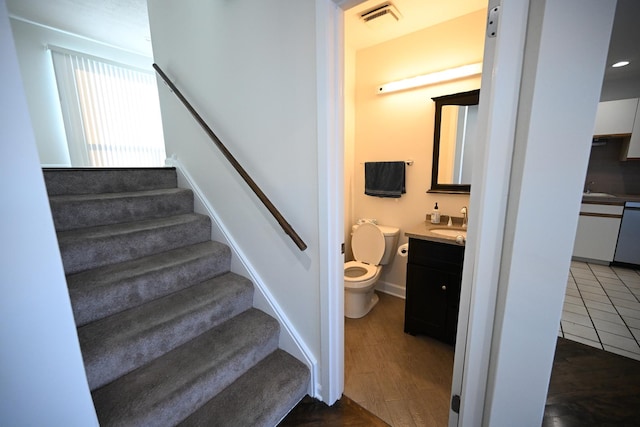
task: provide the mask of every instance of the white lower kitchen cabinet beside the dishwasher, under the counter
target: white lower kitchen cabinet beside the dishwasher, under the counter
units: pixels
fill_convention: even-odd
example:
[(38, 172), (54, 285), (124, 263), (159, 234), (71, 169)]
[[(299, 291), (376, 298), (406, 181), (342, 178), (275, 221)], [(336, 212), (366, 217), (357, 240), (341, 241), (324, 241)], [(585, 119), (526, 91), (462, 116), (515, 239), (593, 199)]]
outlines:
[(573, 245), (573, 257), (609, 264), (613, 261), (624, 203), (583, 202)]

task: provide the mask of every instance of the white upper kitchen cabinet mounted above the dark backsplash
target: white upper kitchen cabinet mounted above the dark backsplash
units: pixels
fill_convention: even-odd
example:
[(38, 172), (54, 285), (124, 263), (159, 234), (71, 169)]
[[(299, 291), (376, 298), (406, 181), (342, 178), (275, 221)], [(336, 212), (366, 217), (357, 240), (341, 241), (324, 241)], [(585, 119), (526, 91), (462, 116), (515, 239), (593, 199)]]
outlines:
[[(600, 102), (593, 134), (599, 136), (632, 133), (634, 123), (637, 122), (637, 110), (638, 98)], [(640, 122), (638, 125), (640, 126)]]

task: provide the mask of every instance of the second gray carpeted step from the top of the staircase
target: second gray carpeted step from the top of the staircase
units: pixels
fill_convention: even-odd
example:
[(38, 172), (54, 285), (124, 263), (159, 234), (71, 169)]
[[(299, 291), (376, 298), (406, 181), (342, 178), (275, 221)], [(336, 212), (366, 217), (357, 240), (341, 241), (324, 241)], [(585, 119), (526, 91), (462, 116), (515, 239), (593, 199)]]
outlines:
[(193, 212), (193, 192), (182, 188), (52, 196), (57, 231), (118, 224)]

